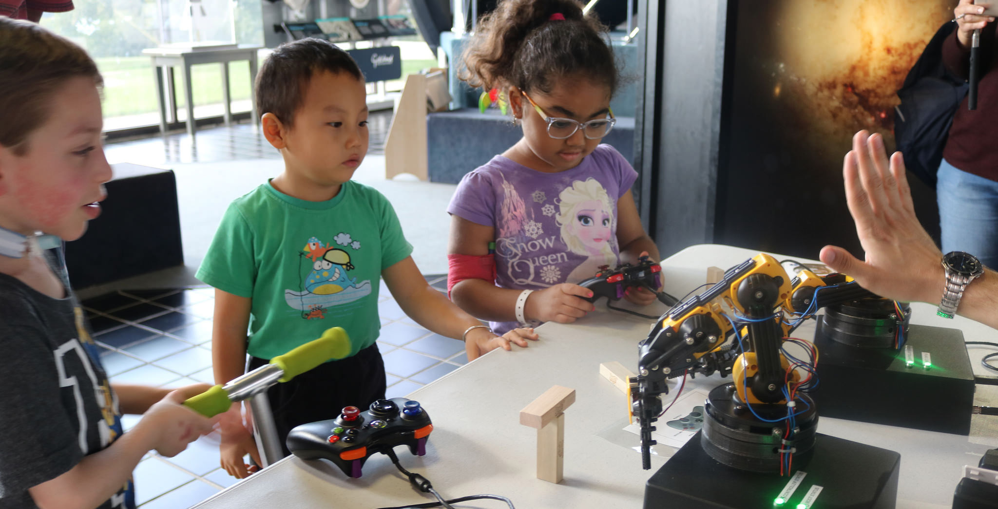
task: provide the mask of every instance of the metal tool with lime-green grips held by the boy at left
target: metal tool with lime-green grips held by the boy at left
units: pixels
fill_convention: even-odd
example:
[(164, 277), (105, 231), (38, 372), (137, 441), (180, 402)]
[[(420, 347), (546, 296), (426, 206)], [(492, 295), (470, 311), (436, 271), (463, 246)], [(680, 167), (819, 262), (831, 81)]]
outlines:
[(269, 364), (259, 366), (225, 385), (216, 385), (189, 398), (184, 404), (202, 415), (212, 417), (229, 410), (236, 401), (252, 398), (253, 425), (264, 463), (260, 466), (264, 467), (282, 456), (266, 399), (266, 389), (277, 382), (286, 382), (327, 360), (343, 358), (349, 353), (350, 338), (346, 331), (342, 327), (327, 328), (318, 339), (277, 355), (270, 359)]

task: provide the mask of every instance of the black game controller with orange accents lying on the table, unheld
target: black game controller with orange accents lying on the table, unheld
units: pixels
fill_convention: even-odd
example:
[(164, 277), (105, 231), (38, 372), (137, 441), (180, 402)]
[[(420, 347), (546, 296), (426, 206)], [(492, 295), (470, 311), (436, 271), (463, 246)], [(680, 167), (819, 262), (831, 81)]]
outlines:
[(301, 459), (327, 459), (349, 477), (376, 452), (408, 445), (416, 456), (426, 454), (426, 437), (433, 431), (430, 416), (419, 402), (404, 397), (378, 399), (361, 412), (343, 408), (335, 419), (296, 426), (287, 434), (287, 448)]

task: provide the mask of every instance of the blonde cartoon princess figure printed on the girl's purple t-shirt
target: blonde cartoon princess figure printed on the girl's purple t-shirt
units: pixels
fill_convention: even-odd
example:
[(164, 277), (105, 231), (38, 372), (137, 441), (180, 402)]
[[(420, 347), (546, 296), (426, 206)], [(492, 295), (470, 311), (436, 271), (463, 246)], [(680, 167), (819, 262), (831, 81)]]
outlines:
[(556, 202), (559, 212), (555, 223), (569, 251), (584, 255), (566, 279), (578, 282), (592, 277), (600, 265), (617, 266), (614, 239), (614, 208), (607, 190), (596, 179), (575, 181), (565, 188)]

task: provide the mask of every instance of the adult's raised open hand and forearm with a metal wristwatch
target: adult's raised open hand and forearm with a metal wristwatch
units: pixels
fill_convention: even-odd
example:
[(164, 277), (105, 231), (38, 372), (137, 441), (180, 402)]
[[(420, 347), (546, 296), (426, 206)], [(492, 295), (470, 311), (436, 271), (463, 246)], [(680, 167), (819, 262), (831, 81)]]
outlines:
[[(825, 246), (819, 255), (821, 261), (888, 298), (942, 307), (951, 304), (944, 302), (947, 275), (943, 255), (915, 217), (901, 154), (896, 152), (888, 160), (883, 138), (860, 131), (852, 138), (852, 151), (845, 155), (842, 175), (849, 213), (866, 259)], [(950, 255), (947, 261), (960, 268), (970, 260)], [(950, 300), (954, 293), (958, 292), (948, 295)], [(994, 270), (983, 268), (957, 300), (956, 313), (998, 328), (998, 273)]]

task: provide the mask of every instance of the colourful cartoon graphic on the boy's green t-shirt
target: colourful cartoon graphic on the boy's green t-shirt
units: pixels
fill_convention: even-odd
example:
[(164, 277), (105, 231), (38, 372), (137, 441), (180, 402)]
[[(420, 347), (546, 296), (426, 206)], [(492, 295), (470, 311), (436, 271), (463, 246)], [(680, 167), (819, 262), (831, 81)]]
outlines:
[(298, 257), (312, 260), (311, 266), (297, 268), (304, 275), (299, 288), (284, 290), (284, 301), (301, 311), (304, 319), (322, 319), (330, 306), (352, 302), (371, 292), (369, 280), (358, 282), (348, 273), (355, 267), (346, 250), (360, 250), (360, 242), (346, 233), (338, 234), (333, 242), (343, 249), (323, 245), (316, 237), (308, 239)]

